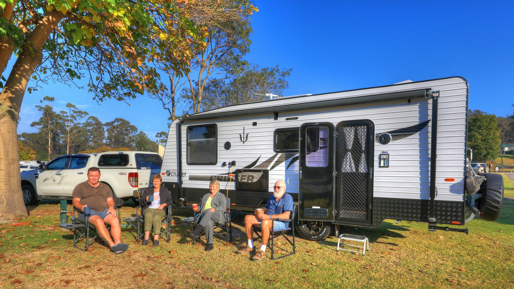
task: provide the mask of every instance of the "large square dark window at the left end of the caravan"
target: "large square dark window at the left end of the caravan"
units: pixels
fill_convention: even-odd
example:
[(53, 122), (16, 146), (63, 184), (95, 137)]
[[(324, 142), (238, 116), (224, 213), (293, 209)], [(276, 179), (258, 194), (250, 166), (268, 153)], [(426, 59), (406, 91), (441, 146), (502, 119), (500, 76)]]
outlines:
[(188, 165), (215, 165), (217, 162), (216, 124), (188, 127)]

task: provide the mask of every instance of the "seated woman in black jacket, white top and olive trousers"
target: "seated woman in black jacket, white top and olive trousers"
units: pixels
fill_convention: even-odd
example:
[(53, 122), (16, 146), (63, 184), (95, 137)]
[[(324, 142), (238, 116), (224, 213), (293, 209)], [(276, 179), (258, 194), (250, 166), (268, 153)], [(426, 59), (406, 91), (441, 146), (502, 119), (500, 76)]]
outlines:
[[(148, 187), (144, 190), (143, 195), (139, 198), (139, 205), (144, 215), (144, 238), (141, 245), (148, 244), (150, 240), (150, 230), (154, 227), (154, 245), (159, 245), (159, 233), (161, 221), (166, 216), (164, 207), (171, 206), (171, 193), (166, 187), (161, 187), (162, 177), (154, 175), (152, 177), (154, 187)], [(154, 196), (154, 201), (149, 202), (149, 196)], [(171, 210), (171, 208), (168, 208)]]

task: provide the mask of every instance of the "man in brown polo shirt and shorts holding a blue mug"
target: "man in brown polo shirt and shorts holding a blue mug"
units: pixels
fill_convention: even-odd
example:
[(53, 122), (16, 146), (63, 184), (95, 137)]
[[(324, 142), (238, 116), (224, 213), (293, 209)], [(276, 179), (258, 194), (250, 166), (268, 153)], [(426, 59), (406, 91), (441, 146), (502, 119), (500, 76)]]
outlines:
[[(128, 249), (128, 244), (121, 243), (121, 227), (114, 209), (113, 192), (99, 180), (100, 170), (96, 167), (89, 168), (87, 180), (78, 184), (71, 194), (73, 206), (82, 210), (79, 218), (85, 218), (84, 207), (90, 208), (89, 222), (97, 229), (98, 236), (111, 247), (114, 254), (120, 254)], [(111, 225), (110, 235), (105, 224)]]

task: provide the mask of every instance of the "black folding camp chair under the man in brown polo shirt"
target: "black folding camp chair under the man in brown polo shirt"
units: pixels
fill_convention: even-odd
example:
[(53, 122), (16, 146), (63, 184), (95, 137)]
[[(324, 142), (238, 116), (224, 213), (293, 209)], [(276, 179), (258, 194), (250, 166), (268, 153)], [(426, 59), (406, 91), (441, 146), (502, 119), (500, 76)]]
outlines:
[[(114, 207), (118, 211), (118, 220), (120, 220), (120, 209), (117, 207)], [(77, 212), (77, 215), (75, 213)], [(84, 219), (79, 218), (79, 213), (82, 213), (82, 210), (79, 210), (77, 208), (73, 208), (73, 216), (72, 221), (73, 223), (66, 223), (66, 224), (59, 224), (59, 227), (63, 229), (68, 229), (73, 232), (73, 246), (79, 250), (87, 251), (89, 245), (95, 241), (95, 239), (98, 237), (98, 232), (96, 231), (96, 227), (93, 226), (89, 222), (89, 215), (85, 215)], [(120, 220), (121, 222), (121, 220)], [(109, 232), (111, 231), (111, 226), (106, 225), (107, 230)], [(95, 237), (90, 238), (89, 237), (89, 230), (93, 230), (96, 234)], [(81, 240), (84, 240), (85, 248), (79, 248), (77, 246), (77, 243), (79, 243)]]

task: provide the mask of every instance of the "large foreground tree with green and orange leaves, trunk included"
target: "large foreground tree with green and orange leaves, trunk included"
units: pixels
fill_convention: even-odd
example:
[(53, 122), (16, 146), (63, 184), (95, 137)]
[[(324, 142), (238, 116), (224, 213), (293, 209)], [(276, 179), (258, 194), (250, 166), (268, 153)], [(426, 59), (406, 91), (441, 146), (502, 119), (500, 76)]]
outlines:
[(189, 11), (187, 1), (0, 0), (0, 216), (27, 215), (16, 165), (25, 92), (49, 81), (85, 79), (98, 101), (135, 98), (158, 82), (149, 62), (173, 55), (170, 65), (184, 71), (193, 47), (205, 43), (206, 32)]

